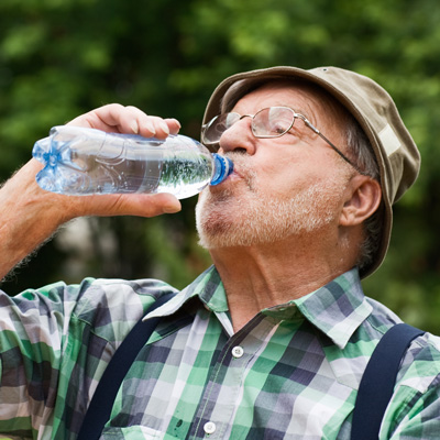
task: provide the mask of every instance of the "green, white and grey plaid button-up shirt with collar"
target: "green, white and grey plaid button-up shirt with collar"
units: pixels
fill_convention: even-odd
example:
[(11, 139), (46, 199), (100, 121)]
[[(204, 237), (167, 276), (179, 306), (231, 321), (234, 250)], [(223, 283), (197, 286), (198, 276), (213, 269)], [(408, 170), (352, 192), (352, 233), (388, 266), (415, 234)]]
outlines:
[[(86, 279), (1, 295), (0, 432), (75, 439), (113, 352), (170, 290), (153, 279)], [(369, 358), (399, 321), (364, 297), (355, 270), (262, 310), (235, 334), (213, 267), (151, 315), (163, 319), (102, 439), (349, 439)], [(381, 439), (440, 438), (439, 349), (428, 333), (411, 343)]]

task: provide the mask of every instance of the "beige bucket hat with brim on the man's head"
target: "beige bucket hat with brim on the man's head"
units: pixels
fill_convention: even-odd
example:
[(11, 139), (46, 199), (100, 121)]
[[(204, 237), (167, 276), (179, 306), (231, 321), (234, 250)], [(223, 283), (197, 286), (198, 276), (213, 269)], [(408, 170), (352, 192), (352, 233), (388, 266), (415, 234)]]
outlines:
[(361, 274), (365, 277), (385, 257), (393, 224), (392, 205), (416, 180), (420, 154), (391, 96), (372, 79), (338, 67), (304, 70), (280, 66), (233, 75), (213, 91), (205, 111), (204, 124), (220, 113), (222, 99), (232, 85), (244, 96), (250, 85), (283, 78), (302, 78), (326, 89), (358, 120), (373, 146), (381, 172), (384, 221), (380, 249), (373, 263)]

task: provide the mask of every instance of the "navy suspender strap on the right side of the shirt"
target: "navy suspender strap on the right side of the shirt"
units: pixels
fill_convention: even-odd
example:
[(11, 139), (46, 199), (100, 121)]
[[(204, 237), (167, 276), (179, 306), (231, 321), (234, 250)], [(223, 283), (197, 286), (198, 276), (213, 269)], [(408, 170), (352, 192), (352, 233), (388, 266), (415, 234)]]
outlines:
[(378, 439), (402, 358), (411, 341), (424, 333), (407, 323), (398, 323), (382, 337), (361, 380), (353, 411), (352, 440)]

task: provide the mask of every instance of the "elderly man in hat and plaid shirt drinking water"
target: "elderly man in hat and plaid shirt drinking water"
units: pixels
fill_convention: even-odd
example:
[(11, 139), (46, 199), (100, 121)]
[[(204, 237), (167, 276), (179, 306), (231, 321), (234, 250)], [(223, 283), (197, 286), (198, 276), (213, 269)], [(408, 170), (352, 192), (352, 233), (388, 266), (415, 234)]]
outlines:
[[(165, 138), (176, 120), (106, 106), (72, 121)], [(339, 68), (275, 67), (226, 79), (202, 142), (234, 162), (196, 210), (213, 266), (148, 314), (162, 319), (123, 380), (102, 438), (350, 439), (374, 348), (399, 319), (364, 297), (382, 263), (392, 204), (418, 151), (389, 96)], [(151, 217), (170, 195), (63, 197), (31, 161), (1, 190), (3, 275), (78, 216)], [(1, 297), (0, 432), (75, 439), (116, 349), (174, 289), (85, 279)], [(380, 439), (438, 439), (440, 342), (414, 340)], [(374, 403), (372, 403), (374, 405)]]

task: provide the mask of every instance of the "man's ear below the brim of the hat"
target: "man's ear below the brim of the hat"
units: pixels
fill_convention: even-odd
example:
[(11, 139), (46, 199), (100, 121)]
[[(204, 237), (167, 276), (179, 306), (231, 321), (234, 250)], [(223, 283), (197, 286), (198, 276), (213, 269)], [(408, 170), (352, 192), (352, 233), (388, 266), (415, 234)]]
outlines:
[(371, 217), (381, 204), (382, 189), (377, 180), (369, 176), (356, 175), (346, 188), (339, 224), (352, 227)]

